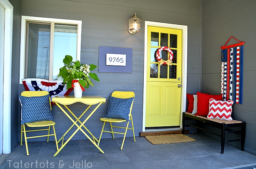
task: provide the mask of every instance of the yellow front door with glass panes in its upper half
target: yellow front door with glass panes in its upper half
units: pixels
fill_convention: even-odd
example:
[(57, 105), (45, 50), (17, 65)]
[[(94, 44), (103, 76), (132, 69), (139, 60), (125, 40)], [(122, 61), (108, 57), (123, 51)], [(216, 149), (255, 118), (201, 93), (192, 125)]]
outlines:
[[(182, 30), (148, 26), (147, 89), (145, 127), (180, 126)], [(167, 46), (173, 51), (171, 65), (156, 59), (158, 48)], [(162, 50), (160, 58), (169, 59)]]

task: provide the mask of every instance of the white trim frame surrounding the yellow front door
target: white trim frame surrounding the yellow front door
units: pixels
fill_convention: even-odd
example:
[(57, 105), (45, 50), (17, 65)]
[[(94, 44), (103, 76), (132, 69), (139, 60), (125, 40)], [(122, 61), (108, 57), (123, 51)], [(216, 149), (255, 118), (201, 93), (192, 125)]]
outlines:
[(142, 131), (145, 132), (146, 119), (146, 87), (147, 87), (147, 41), (148, 26), (166, 27), (173, 29), (182, 29), (182, 91), (180, 107), (180, 128), (182, 128), (182, 112), (186, 111), (186, 91), (187, 91), (187, 25), (167, 24), (161, 22), (145, 21), (144, 37), (144, 85), (143, 85), (143, 121)]

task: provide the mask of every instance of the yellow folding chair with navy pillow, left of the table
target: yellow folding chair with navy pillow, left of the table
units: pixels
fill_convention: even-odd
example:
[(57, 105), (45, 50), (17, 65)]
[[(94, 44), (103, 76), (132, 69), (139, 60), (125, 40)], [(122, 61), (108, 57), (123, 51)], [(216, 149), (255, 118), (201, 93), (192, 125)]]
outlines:
[[(49, 96), (47, 96), (47, 95), (49, 95)], [(50, 103), (50, 94), (47, 91), (24, 91), (20, 94), (20, 96), (25, 96), (25, 97), (20, 97), (20, 104), (21, 105), (23, 104), (22, 108), (24, 110), (23, 112), (21, 111), (21, 118), (23, 118), (22, 120), (24, 120), (24, 122), (27, 122), (27, 123), (21, 124), (20, 145), (22, 145), (22, 135), (24, 133), (27, 156), (29, 155), (29, 153), (28, 153), (28, 143), (27, 143), (27, 139), (29, 139), (29, 138), (38, 138), (38, 137), (47, 136), (47, 142), (48, 142), (49, 141), (49, 136), (54, 136), (57, 151), (58, 151), (59, 147), (58, 147), (58, 144), (57, 144), (57, 138), (56, 138), (56, 133), (55, 133), (55, 129), (54, 129), (55, 122), (52, 121), (53, 116), (52, 116), (52, 112), (51, 112), (52, 106), (51, 106), (51, 103)], [(39, 96), (45, 96), (45, 97), (39, 97)], [(29, 99), (28, 97), (33, 97), (33, 98), (37, 99), (37, 101), (36, 101), (37, 103), (35, 103), (35, 104), (41, 104), (41, 105), (33, 105), (32, 102), (34, 102), (34, 100), (32, 100), (32, 98)], [(49, 104), (48, 104), (47, 100), (49, 100)], [(31, 105), (28, 105), (30, 103), (31, 103)], [(39, 107), (39, 109), (35, 110), (35, 107)], [(49, 110), (49, 108), (50, 108), (50, 110)], [(52, 118), (50, 120), (47, 120), (46, 118), (48, 118), (48, 117), (45, 117), (45, 116), (43, 117), (43, 115), (42, 115), (42, 118), (40, 116), (38, 116), (38, 114), (45, 113), (44, 111), (47, 111), (47, 110), (48, 110), (47, 113), (49, 113), (49, 115), (52, 116)], [(26, 114), (24, 114), (25, 112), (26, 112)], [(37, 112), (37, 114), (34, 114), (35, 112)], [(33, 120), (28, 119), (28, 118), (32, 118), (32, 116), (33, 116)], [(37, 118), (37, 119), (35, 120), (35, 118)], [(40, 119), (43, 119), (43, 118), (45, 118), (46, 120), (40, 120)], [(28, 121), (36, 121), (36, 122), (28, 122)], [(46, 129), (26, 130), (25, 125), (27, 125), (28, 127), (47, 127), (48, 126), (48, 128), (46, 128)], [(50, 134), (50, 126), (52, 126), (52, 128), (53, 128), (54, 134)], [(30, 136), (30, 137), (26, 136), (27, 132), (46, 131), (46, 130), (48, 131), (48, 134), (45, 134), (45, 135), (37, 135), (37, 136)]]

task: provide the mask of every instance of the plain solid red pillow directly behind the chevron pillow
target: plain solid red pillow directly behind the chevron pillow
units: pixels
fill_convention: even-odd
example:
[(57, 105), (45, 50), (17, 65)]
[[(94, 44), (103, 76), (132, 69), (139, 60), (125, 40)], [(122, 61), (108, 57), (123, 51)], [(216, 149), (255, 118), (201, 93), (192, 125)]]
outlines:
[(196, 116), (207, 116), (209, 113), (209, 100), (222, 100), (222, 95), (212, 95), (197, 92), (197, 113)]

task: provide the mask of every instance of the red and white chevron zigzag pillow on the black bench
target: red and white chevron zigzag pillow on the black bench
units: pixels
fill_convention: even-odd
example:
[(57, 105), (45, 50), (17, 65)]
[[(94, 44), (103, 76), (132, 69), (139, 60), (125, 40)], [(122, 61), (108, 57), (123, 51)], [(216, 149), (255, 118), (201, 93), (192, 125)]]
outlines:
[(217, 118), (221, 120), (231, 121), (233, 100), (218, 101), (213, 98), (209, 100), (209, 114), (207, 118)]

